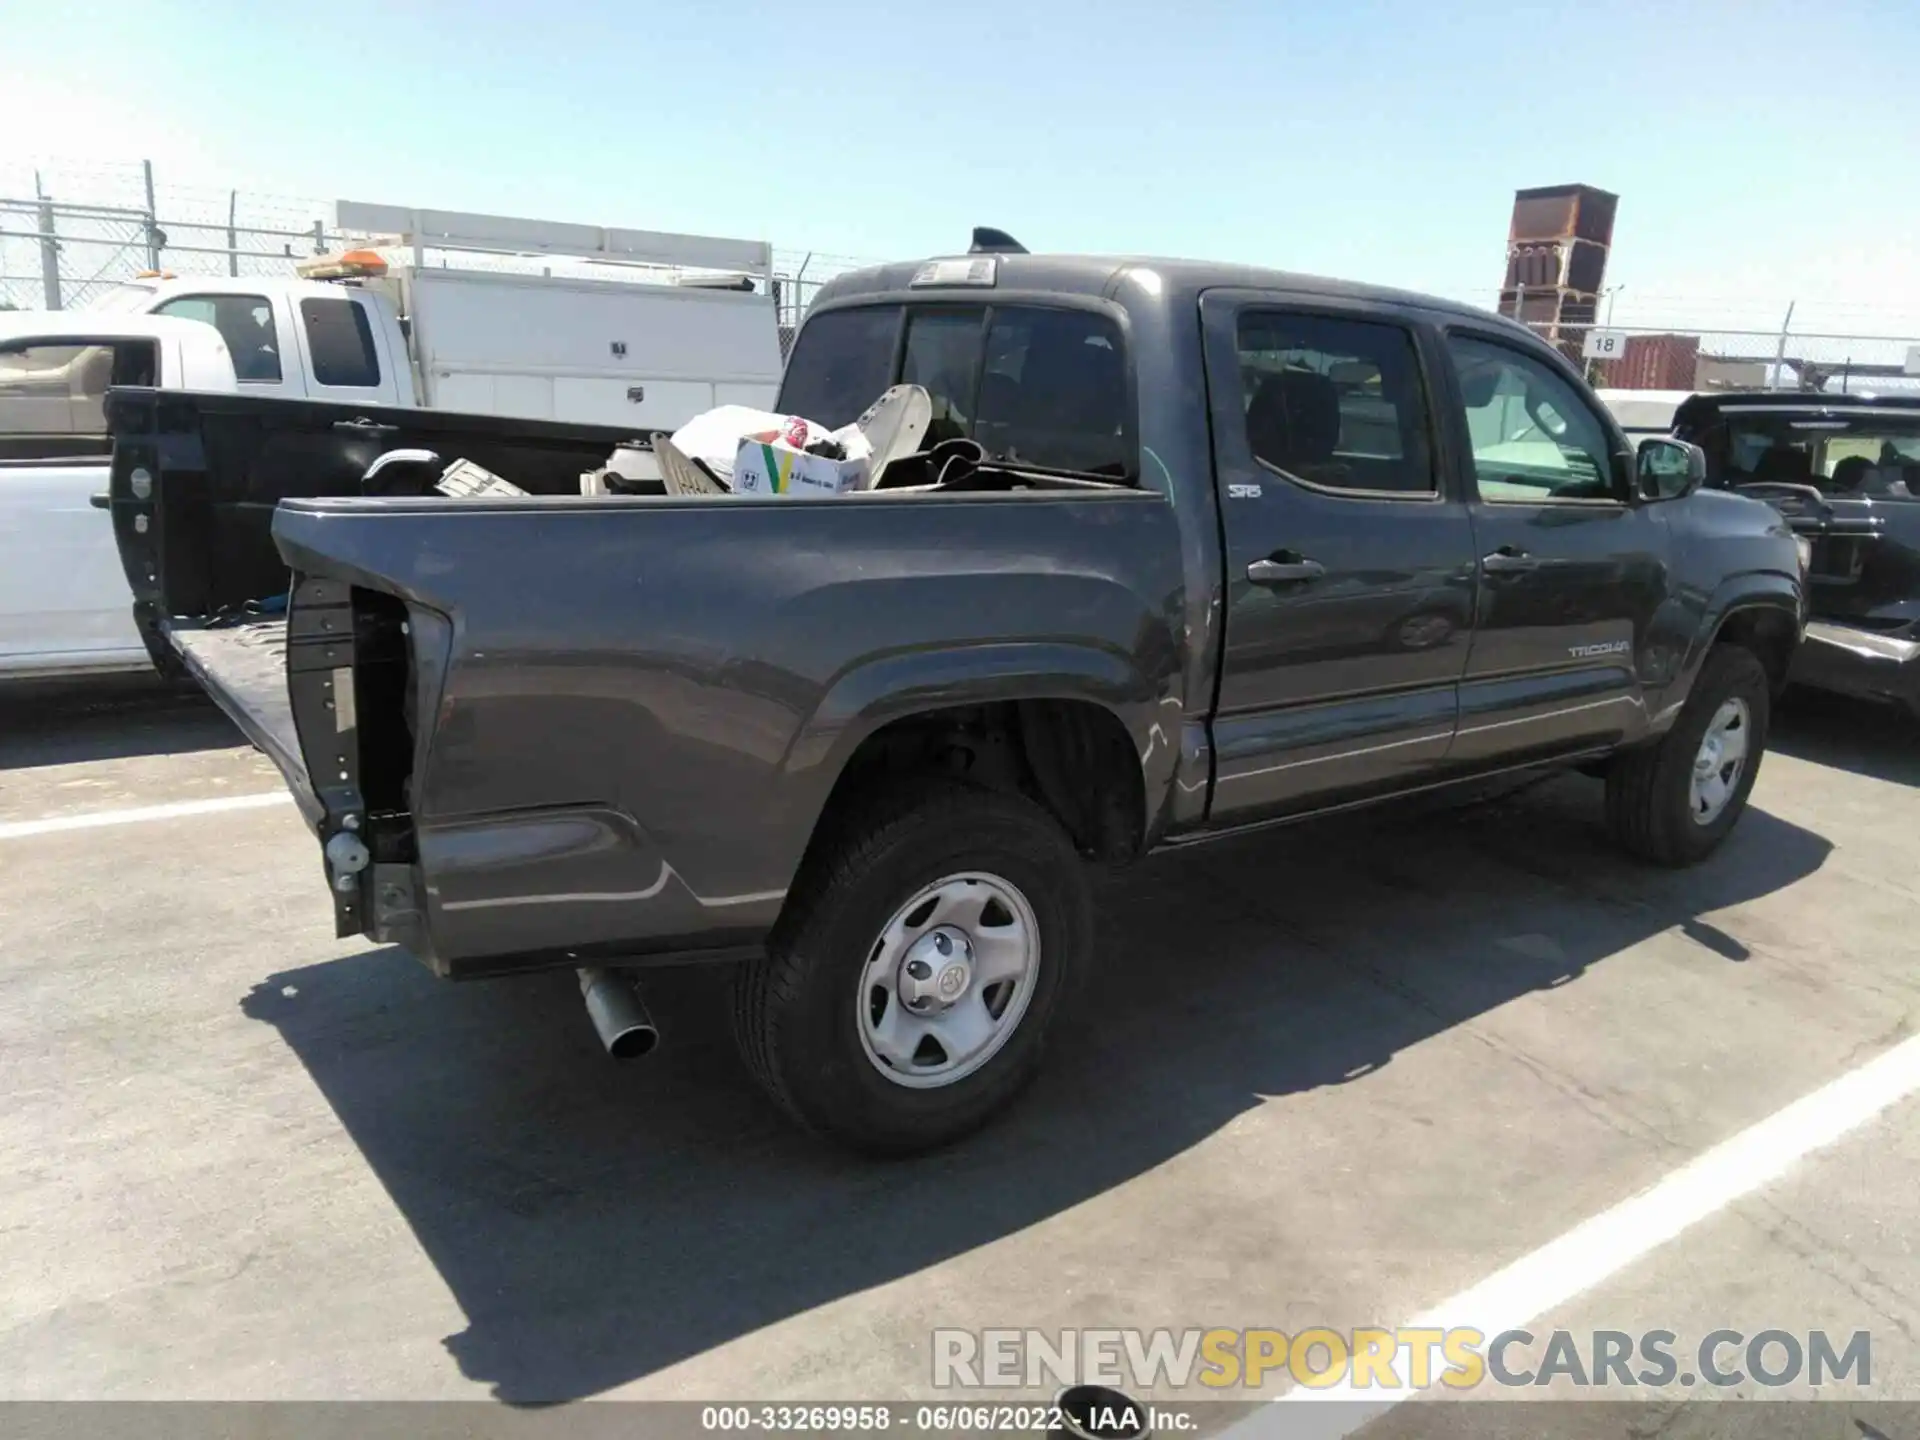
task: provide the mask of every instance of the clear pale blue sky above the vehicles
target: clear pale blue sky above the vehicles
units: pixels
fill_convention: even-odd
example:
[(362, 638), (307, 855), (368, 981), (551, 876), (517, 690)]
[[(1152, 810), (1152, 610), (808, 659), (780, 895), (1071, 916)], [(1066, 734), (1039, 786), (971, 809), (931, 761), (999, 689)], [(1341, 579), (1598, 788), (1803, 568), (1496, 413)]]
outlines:
[(0, 109), (10, 169), (1457, 296), (1517, 186), (1586, 180), (1622, 321), (1920, 319), (1914, 0), (0, 0)]

